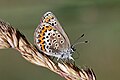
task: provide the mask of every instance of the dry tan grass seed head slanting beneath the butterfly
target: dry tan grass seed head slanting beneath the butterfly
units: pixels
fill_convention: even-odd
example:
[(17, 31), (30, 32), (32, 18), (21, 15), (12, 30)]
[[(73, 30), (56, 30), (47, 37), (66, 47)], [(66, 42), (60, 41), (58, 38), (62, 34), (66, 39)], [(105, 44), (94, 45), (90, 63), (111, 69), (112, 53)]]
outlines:
[(64, 62), (55, 63), (30, 44), (18, 30), (14, 29), (9, 23), (0, 20), (0, 49), (3, 48), (18, 50), (29, 62), (46, 67), (66, 80), (96, 80), (92, 69), (79, 69), (74, 64)]

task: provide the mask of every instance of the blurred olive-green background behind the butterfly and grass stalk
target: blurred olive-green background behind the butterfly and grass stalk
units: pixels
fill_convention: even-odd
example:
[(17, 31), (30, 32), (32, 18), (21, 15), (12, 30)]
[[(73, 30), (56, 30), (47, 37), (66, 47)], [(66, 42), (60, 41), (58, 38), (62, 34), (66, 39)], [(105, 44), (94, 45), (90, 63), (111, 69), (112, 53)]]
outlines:
[[(42, 15), (52, 11), (71, 43), (82, 33), (88, 44), (77, 45), (78, 66), (93, 68), (97, 80), (120, 79), (120, 0), (0, 0), (0, 18), (33, 43)], [(74, 57), (78, 55), (75, 53)], [(0, 50), (0, 80), (64, 80), (33, 65), (14, 49)]]

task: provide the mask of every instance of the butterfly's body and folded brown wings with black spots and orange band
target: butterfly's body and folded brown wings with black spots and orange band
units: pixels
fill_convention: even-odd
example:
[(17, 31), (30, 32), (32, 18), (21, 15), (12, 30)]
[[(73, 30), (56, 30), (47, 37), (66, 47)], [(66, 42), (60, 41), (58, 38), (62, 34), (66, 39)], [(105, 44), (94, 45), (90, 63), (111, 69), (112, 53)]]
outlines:
[(52, 12), (46, 12), (40, 19), (34, 32), (34, 43), (38, 50), (57, 60), (74, 60), (72, 57), (74, 48)]

